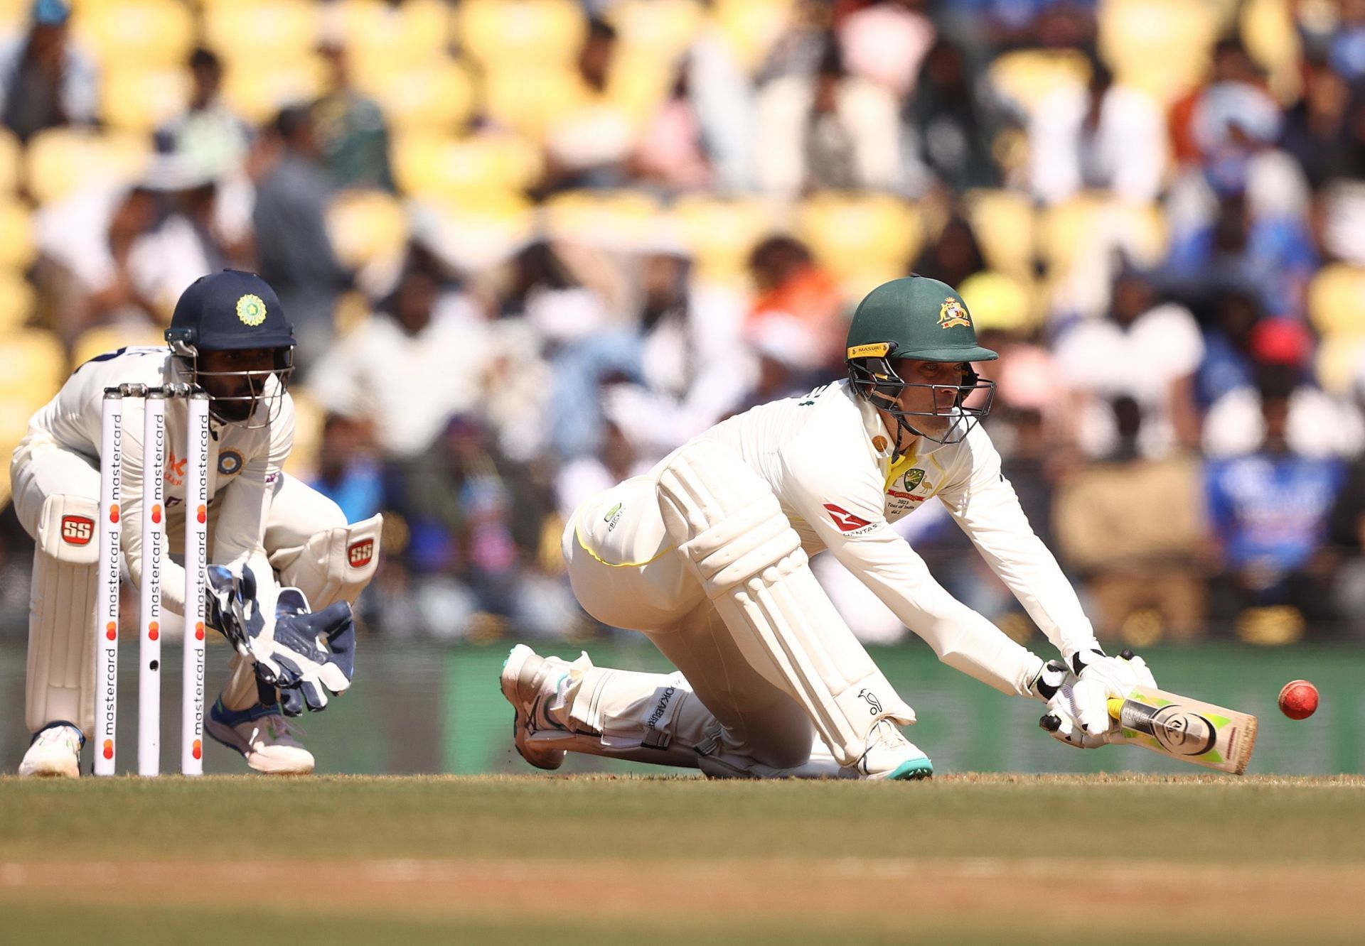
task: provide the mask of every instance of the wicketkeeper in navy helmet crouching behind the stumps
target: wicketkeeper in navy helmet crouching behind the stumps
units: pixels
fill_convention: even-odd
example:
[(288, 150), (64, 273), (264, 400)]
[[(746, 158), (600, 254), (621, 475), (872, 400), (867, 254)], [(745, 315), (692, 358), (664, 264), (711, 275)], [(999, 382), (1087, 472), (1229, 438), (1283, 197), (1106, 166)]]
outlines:
[[(94, 615), (104, 391), (119, 384), (198, 384), (209, 394), (209, 623), (238, 645), (205, 729), (257, 772), (313, 772), (283, 713), (326, 705), (349, 684), (351, 604), (374, 575), (381, 518), (348, 525), (340, 507), (283, 472), (293, 444), (288, 380), (293, 330), (259, 277), (224, 270), (180, 296), (168, 346), (124, 348), (72, 372), (29, 423), (11, 461), (19, 522), (34, 538), (26, 720), (34, 733), (20, 776), (78, 776), (94, 727)], [(167, 402), (168, 558), (142, 549), (143, 402), (123, 429), (121, 552), (134, 585), (149, 567), (162, 607), (184, 612), (187, 403)], [(280, 594), (288, 586), (288, 594)], [(278, 602), (278, 609), (277, 609)], [(322, 646), (321, 639), (330, 642)], [(283, 710), (283, 712), (281, 712)]]

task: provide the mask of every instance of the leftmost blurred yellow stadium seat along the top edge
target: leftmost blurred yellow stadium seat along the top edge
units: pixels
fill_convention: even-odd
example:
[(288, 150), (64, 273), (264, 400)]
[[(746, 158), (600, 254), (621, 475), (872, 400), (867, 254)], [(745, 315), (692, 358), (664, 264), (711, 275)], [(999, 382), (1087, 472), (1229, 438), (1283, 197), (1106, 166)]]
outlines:
[(194, 45), (194, 15), (177, 0), (83, 3), (71, 25), (106, 68), (183, 65)]

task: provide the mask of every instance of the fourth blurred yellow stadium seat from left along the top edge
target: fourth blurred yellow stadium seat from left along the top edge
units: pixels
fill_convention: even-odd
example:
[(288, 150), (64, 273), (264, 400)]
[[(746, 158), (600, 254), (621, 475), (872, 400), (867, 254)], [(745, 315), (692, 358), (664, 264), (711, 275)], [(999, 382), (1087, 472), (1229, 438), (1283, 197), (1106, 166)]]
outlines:
[(452, 29), (455, 44), (485, 68), (566, 67), (587, 20), (573, 0), (465, 0)]

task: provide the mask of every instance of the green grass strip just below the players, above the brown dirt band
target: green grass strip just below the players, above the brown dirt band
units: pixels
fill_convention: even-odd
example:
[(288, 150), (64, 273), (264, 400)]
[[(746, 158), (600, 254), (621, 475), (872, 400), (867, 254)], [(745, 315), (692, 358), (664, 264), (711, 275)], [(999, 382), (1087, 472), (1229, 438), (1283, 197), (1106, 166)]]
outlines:
[[(251, 826), (269, 825), (266, 830)], [(707, 831), (691, 830), (704, 823)], [(1254, 829), (1254, 830), (1252, 830)], [(699, 778), (0, 780), (4, 860), (1022, 857), (1072, 837), (1132, 859), (1365, 863), (1365, 780), (958, 776), (924, 784)], [(266, 838), (268, 836), (268, 838)], [(1080, 857), (1108, 857), (1084, 845)]]

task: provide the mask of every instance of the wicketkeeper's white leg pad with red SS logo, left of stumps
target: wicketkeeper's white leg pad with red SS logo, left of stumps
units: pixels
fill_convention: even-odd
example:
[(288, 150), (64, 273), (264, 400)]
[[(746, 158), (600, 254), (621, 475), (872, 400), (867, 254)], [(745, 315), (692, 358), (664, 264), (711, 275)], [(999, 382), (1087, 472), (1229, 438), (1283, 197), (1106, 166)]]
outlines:
[(30, 732), (57, 720), (94, 732), (98, 518), (98, 502), (66, 495), (48, 496), (38, 514), (25, 702)]

